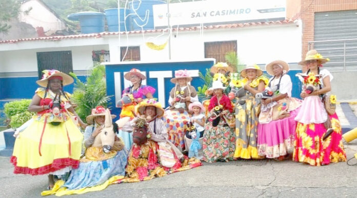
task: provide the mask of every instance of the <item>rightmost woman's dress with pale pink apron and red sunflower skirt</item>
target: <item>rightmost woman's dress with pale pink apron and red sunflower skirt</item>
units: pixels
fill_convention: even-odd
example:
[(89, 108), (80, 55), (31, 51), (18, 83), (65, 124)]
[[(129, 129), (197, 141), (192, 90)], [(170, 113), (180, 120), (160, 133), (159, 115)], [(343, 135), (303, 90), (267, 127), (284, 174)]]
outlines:
[[(320, 71), (321, 87), (327, 76), (333, 79), (331, 73), (324, 69)], [(302, 80), (302, 79), (301, 79)], [(333, 133), (323, 141), (326, 133), (324, 122), (330, 119)], [(312, 166), (327, 165), (330, 162), (345, 162), (346, 153), (342, 143), (342, 128), (336, 114), (328, 115), (319, 96), (304, 98), (302, 107), (295, 120), (296, 126), (293, 161), (305, 162)]]

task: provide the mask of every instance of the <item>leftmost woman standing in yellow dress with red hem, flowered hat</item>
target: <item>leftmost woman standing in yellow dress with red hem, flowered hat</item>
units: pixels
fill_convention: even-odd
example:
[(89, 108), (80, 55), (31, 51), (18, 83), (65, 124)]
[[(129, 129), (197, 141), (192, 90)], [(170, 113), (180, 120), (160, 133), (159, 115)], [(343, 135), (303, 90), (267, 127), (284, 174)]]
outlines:
[(83, 135), (72, 116), (82, 127), (86, 124), (74, 112), (70, 94), (63, 91), (73, 78), (57, 70), (43, 73), (43, 78), (36, 81), (42, 87), (36, 90), (29, 106), (29, 111), (37, 115), (16, 137), (11, 163), (16, 174), (49, 174), (48, 187), (52, 188), (53, 175), (63, 175), (79, 164)]

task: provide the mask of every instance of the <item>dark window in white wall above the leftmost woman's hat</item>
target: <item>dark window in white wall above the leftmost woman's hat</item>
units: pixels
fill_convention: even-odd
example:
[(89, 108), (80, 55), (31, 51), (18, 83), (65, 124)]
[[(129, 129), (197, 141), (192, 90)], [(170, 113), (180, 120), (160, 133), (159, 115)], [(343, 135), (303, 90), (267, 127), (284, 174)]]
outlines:
[(58, 70), (63, 73), (73, 72), (72, 52), (37, 52), (38, 79), (42, 78), (43, 70)]

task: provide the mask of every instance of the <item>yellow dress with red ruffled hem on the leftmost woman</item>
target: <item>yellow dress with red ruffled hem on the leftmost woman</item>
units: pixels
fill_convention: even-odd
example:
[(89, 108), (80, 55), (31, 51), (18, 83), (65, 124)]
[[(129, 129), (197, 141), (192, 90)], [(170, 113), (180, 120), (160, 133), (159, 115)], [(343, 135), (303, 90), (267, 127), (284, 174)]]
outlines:
[[(39, 105), (48, 105), (55, 97), (51, 91), (39, 88)], [(61, 113), (54, 116), (50, 109), (38, 112), (33, 122), (16, 138), (11, 163), (14, 173), (61, 175), (77, 168), (81, 156), (83, 135), (73, 123), (69, 107), (70, 94), (61, 95)], [(54, 125), (51, 122), (57, 122)]]

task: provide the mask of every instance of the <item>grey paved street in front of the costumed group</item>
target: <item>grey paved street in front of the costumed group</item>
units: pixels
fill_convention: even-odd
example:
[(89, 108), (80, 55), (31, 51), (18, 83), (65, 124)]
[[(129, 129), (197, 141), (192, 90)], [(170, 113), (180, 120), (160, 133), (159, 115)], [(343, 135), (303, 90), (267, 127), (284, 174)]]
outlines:
[[(351, 105), (356, 113), (357, 105)], [(340, 109), (341, 110), (341, 109)], [(338, 111), (340, 111), (338, 110)], [(338, 113), (341, 121), (349, 123)], [(344, 120), (345, 119), (345, 120)], [(345, 144), (347, 158), (357, 139)], [(357, 160), (354, 160), (357, 163)], [(0, 157), (0, 197), (39, 197), (46, 176), (15, 175), (8, 157)], [(239, 160), (214, 163), (150, 181), (115, 184), (72, 197), (356, 197), (357, 165), (346, 162), (312, 167), (291, 160)], [(51, 196), (54, 197), (54, 196)]]

